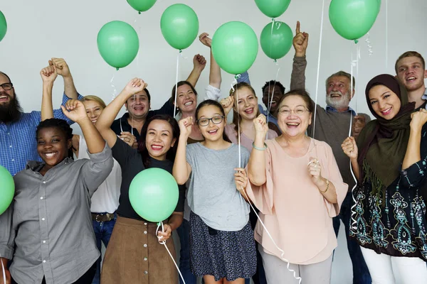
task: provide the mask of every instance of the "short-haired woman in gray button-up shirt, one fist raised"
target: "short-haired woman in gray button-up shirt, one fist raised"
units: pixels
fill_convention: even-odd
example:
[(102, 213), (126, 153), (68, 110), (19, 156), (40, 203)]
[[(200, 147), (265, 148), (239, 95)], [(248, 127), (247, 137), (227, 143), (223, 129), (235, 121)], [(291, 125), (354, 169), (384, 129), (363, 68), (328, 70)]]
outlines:
[[(110, 148), (86, 115), (81, 102), (62, 107), (90, 137), (90, 159), (73, 160), (73, 130), (62, 119), (46, 119), (36, 131), (42, 163), (29, 161), (14, 177), (13, 215), (0, 239), (5, 258), (14, 258), (11, 283), (92, 283), (100, 256), (90, 219), (90, 197), (112, 169)], [(13, 221), (11, 221), (13, 220)], [(4, 244), (7, 244), (4, 246)], [(7, 269), (6, 269), (7, 271)], [(6, 272), (6, 275), (9, 273)]]

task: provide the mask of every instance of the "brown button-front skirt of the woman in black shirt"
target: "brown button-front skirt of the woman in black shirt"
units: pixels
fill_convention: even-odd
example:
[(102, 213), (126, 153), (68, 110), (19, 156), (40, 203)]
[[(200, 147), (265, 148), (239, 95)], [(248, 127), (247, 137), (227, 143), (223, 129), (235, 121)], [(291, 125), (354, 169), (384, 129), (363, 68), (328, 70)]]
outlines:
[[(156, 236), (157, 224), (117, 217), (102, 263), (101, 284), (175, 284), (178, 271)], [(166, 242), (176, 259), (172, 236)]]

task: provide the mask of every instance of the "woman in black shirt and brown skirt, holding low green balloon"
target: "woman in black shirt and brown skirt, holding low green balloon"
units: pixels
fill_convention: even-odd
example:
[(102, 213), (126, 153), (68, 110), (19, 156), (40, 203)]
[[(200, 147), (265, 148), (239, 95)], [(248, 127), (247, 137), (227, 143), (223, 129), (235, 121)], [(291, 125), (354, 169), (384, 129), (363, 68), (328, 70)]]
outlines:
[[(157, 224), (139, 217), (130, 204), (129, 187), (135, 175), (146, 168), (162, 168), (172, 173), (179, 126), (171, 116), (157, 115), (142, 126), (141, 139), (135, 150), (110, 129), (112, 121), (128, 98), (144, 89), (141, 79), (131, 80), (120, 94), (102, 111), (97, 129), (112, 148), (112, 156), (122, 168), (120, 204), (117, 221), (102, 264), (101, 283), (177, 283), (177, 271), (167, 250), (159, 244), (171, 237), (181, 225), (185, 187), (180, 187), (175, 212), (164, 224), (165, 232), (156, 232)], [(174, 241), (167, 241), (174, 254)]]

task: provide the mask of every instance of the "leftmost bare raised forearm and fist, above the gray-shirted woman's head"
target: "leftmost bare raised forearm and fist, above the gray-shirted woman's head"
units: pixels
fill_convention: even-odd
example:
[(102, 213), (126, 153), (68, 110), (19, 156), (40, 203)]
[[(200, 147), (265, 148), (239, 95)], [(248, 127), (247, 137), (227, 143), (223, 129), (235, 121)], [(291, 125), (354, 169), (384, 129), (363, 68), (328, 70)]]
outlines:
[(43, 80), (43, 94), (41, 97), (41, 121), (53, 118), (52, 89), (53, 83), (58, 77), (56, 68), (52, 65), (44, 67), (40, 71)]

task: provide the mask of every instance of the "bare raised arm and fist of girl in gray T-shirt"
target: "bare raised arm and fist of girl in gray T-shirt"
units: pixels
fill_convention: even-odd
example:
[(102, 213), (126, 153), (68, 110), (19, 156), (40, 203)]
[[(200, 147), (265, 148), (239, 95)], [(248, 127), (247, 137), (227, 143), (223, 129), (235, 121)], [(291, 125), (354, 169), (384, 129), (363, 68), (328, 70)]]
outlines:
[(179, 134), (178, 148), (176, 149), (174, 169), (172, 173), (179, 185), (189, 180), (191, 173), (191, 165), (186, 161), (186, 141), (191, 134), (191, 127), (193, 125), (193, 117), (189, 116), (186, 119), (179, 121)]

